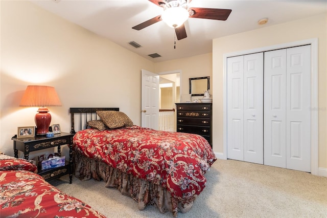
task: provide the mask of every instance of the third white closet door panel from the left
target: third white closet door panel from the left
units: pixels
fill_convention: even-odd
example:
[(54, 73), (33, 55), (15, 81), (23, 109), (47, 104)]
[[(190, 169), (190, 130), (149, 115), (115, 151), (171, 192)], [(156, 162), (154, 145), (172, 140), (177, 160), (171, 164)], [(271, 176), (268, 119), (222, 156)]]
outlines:
[(286, 168), (286, 49), (265, 52), (264, 164)]

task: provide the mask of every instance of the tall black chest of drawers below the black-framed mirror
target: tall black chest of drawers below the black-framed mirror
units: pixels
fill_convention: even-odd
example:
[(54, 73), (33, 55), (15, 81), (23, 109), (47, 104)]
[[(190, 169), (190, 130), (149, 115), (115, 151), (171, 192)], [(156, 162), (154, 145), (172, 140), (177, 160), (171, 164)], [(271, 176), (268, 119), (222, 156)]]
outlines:
[(212, 144), (212, 103), (176, 103), (177, 132), (203, 136)]

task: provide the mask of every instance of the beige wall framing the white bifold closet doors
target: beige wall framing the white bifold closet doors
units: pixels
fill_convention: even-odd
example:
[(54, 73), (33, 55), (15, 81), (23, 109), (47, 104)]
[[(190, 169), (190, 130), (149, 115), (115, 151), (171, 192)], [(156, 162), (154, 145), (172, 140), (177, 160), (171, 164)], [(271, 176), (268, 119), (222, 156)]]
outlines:
[(213, 96), (213, 147), (216, 152), (226, 152), (223, 150), (223, 55), (287, 42), (318, 38), (318, 166), (324, 169), (327, 168), (326, 29), (326, 14), (321, 14), (213, 40), (213, 92), (215, 93)]

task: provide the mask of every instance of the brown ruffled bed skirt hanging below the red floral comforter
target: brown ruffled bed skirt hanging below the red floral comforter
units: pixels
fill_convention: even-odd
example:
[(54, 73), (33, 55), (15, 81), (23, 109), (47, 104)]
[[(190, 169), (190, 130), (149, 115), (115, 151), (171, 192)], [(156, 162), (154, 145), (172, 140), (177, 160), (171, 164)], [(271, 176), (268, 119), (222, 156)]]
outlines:
[(176, 217), (179, 212), (185, 213), (191, 210), (192, 203), (178, 201), (171, 196), (167, 189), (152, 184), (132, 175), (121, 172), (109, 165), (89, 159), (74, 152), (75, 176), (82, 180), (104, 180), (105, 187), (115, 187), (122, 194), (130, 196), (138, 203), (138, 209), (143, 210), (147, 205), (156, 206), (161, 213), (171, 211)]

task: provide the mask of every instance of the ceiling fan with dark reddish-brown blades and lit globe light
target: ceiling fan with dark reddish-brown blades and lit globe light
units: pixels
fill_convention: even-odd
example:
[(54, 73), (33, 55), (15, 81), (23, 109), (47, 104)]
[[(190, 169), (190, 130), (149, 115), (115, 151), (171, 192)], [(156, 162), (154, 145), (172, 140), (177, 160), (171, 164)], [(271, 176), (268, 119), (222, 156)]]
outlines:
[(192, 0), (149, 0), (153, 4), (164, 8), (162, 14), (153, 17), (142, 24), (132, 27), (134, 30), (142, 30), (152, 24), (164, 20), (168, 26), (175, 29), (177, 39), (188, 37), (184, 22), (189, 17), (226, 20), (231, 12), (230, 9), (215, 9), (215, 8), (188, 8), (188, 4)]

